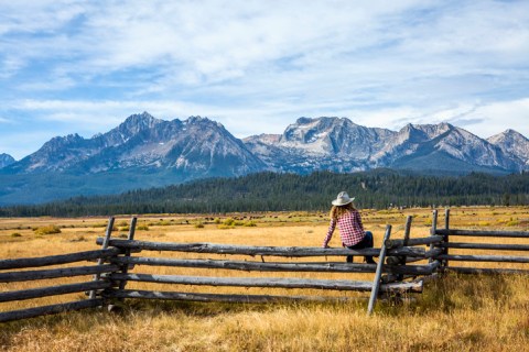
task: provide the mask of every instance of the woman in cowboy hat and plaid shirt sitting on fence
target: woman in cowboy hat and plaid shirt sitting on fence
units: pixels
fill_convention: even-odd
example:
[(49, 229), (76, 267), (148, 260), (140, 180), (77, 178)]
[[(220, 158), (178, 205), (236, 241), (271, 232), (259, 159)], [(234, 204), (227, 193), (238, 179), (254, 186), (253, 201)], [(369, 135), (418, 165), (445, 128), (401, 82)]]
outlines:
[[(336, 224), (339, 229), (339, 237), (342, 238), (342, 245), (349, 250), (361, 250), (373, 248), (373, 233), (364, 231), (360, 213), (353, 206), (355, 198), (349, 198), (347, 193), (342, 191), (336, 199), (332, 201), (331, 208), (331, 224), (328, 226), (327, 234), (323, 241), (323, 248), (328, 248), (328, 242), (333, 237)], [(347, 263), (353, 263), (353, 255), (347, 255)], [(368, 264), (376, 264), (373, 256), (366, 256), (365, 261)]]

